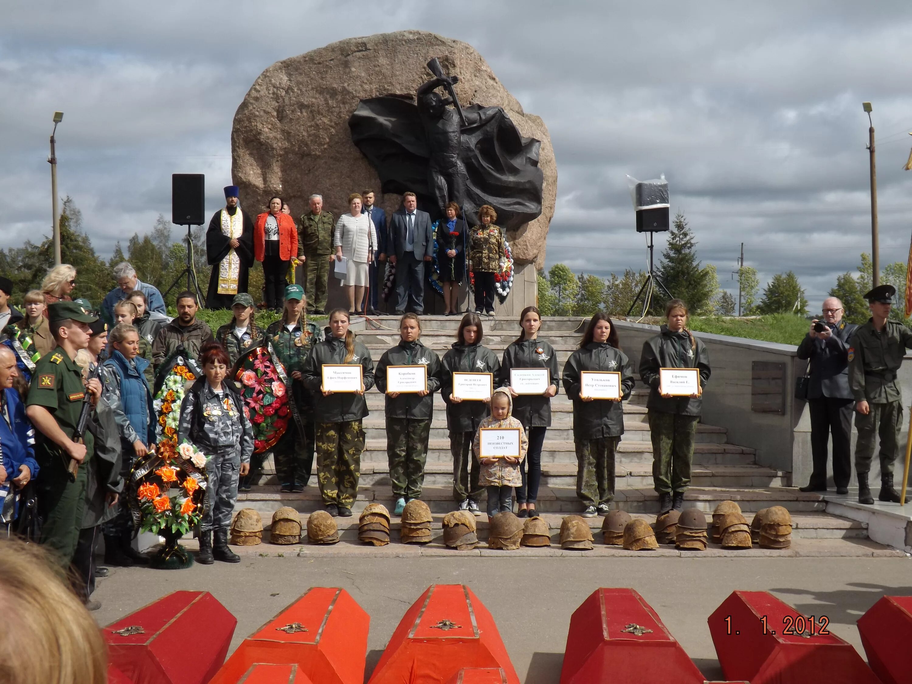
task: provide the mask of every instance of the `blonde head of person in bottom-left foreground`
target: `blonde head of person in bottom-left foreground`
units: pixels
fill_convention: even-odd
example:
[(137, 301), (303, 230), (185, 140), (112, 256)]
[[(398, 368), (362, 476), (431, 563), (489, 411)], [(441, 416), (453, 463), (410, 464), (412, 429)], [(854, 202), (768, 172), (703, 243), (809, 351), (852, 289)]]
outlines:
[(0, 540), (0, 681), (104, 684), (101, 631), (37, 544)]

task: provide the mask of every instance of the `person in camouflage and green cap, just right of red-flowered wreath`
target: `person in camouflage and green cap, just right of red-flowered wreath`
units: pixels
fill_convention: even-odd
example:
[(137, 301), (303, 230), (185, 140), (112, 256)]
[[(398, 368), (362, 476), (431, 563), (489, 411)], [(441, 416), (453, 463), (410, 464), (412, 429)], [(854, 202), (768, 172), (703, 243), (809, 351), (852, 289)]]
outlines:
[[(304, 386), (301, 373), (311, 347), (323, 336), (317, 326), (306, 322), (303, 315), (306, 301), (301, 285), (285, 287), (283, 316), (266, 328), (266, 341), (273, 346), (275, 356), (285, 367), (285, 375), (291, 385), (288, 398), (295, 402), (304, 427), (304, 434), (301, 434), (297, 421), (288, 420), (288, 429), (273, 447), (275, 474), (281, 492), (304, 492), (314, 466), (314, 399)], [(294, 326), (289, 330), (288, 326), (292, 323)]]

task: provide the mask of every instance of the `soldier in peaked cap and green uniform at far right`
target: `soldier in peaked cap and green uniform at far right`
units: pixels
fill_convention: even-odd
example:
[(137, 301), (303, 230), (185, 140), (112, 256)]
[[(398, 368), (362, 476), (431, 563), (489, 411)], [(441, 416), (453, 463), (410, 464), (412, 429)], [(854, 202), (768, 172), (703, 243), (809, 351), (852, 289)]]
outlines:
[(858, 502), (874, 503), (867, 474), (874, 457), (875, 435), (880, 437), (880, 493), (883, 502), (899, 502), (893, 487), (893, 461), (899, 452), (902, 430), (902, 393), (896, 382), (906, 356), (912, 347), (912, 330), (889, 320), (890, 306), (896, 287), (878, 285), (865, 295), (871, 317), (855, 330), (849, 347), (849, 388), (855, 397), (855, 472), (858, 475)]

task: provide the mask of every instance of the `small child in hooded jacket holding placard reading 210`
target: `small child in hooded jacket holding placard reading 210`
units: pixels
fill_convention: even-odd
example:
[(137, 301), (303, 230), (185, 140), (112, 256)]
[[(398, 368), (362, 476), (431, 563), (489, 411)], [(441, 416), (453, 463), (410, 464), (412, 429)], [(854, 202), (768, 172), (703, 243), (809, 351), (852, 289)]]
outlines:
[[(496, 459), (482, 459), (479, 453), (482, 450), (483, 428), (519, 428), (520, 456), (506, 456)], [(475, 432), (472, 442), (472, 451), (475, 458), (482, 464), (482, 471), (478, 483), (488, 492), (488, 518), (497, 513), (513, 511), (513, 487), (523, 486), (523, 474), (520, 463), (525, 458), (529, 449), (529, 439), (525, 436), (523, 423), (513, 418), (513, 398), (510, 390), (498, 388), (491, 396), (491, 415), (482, 420)]]

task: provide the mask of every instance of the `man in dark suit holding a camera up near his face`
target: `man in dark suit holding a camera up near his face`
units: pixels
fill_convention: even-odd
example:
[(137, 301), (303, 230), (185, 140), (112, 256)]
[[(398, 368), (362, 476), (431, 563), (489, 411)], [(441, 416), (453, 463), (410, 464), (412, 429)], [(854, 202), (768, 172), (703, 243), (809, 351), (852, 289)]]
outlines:
[[(858, 326), (843, 320), (843, 303), (836, 297), (824, 299), (824, 320), (811, 323), (811, 329), (798, 346), (798, 358), (809, 358), (810, 384), (807, 403), (811, 411), (811, 453), (814, 472), (802, 492), (826, 491), (826, 459), (830, 433), (833, 433), (833, 481), (836, 493), (848, 493), (852, 476), (852, 412), (855, 398), (849, 389), (848, 362), (850, 337)], [(818, 332), (815, 326), (825, 326)]]

